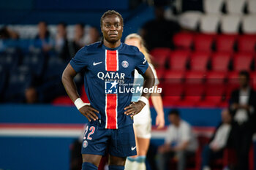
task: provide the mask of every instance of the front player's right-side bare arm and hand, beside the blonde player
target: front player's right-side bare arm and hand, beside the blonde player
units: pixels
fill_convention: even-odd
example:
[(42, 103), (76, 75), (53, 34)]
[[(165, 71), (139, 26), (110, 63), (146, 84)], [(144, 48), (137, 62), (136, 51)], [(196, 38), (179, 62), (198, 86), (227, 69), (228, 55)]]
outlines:
[[(154, 85), (154, 74), (150, 66), (148, 66), (148, 69), (142, 76), (144, 78), (143, 88), (148, 88), (148, 89), (151, 88)], [(143, 91), (141, 96), (146, 97), (148, 99), (149, 96), (151, 96), (151, 93), (144, 93)], [(132, 104), (124, 108), (125, 110), (124, 114), (130, 115), (131, 117), (133, 117), (134, 115), (138, 114), (145, 105), (146, 103), (140, 100), (137, 102), (132, 102)]]

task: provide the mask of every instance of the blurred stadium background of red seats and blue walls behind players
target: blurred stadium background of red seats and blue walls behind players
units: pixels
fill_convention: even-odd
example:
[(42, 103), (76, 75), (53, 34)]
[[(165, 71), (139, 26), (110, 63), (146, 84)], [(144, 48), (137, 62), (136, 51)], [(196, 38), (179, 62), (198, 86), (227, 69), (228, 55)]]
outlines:
[[(167, 112), (175, 107), (197, 137), (211, 136), (238, 87), (238, 72), (248, 71), (256, 87), (255, 0), (0, 1), (0, 169), (69, 169), (72, 143), (87, 122), (61, 85), (61, 73), (81, 45), (75, 44), (78, 27), (82, 45), (100, 40), (100, 17), (115, 9), (124, 18), (123, 42), (128, 34), (143, 34), (159, 5), (178, 26), (170, 28), (170, 44), (148, 47), (163, 88), (166, 125)], [(64, 41), (58, 39), (60, 23), (67, 24)], [(49, 33), (41, 39), (44, 28)], [(68, 52), (59, 45), (67, 45)], [(82, 76), (75, 82), (86, 101)], [(151, 113), (154, 123), (153, 108)], [(153, 150), (164, 133), (153, 126)], [(252, 143), (251, 170), (256, 169), (256, 137)]]

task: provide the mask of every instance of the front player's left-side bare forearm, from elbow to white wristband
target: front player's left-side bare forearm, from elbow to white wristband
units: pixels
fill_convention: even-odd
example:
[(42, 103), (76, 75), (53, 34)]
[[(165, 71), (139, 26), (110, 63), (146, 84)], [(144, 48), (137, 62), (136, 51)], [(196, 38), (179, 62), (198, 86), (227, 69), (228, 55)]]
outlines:
[(68, 72), (66, 72), (66, 69), (65, 69), (62, 74), (61, 81), (64, 85), (65, 90), (67, 91), (69, 98), (73, 102), (75, 102), (75, 100), (79, 98), (79, 95), (78, 95), (78, 89), (74, 82), (74, 76), (68, 74)]

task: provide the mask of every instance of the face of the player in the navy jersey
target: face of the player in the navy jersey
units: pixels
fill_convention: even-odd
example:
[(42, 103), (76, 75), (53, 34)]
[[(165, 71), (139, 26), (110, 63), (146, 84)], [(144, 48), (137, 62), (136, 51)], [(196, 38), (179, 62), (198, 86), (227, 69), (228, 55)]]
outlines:
[(115, 43), (121, 39), (123, 26), (117, 15), (107, 15), (102, 20), (102, 34), (107, 42)]

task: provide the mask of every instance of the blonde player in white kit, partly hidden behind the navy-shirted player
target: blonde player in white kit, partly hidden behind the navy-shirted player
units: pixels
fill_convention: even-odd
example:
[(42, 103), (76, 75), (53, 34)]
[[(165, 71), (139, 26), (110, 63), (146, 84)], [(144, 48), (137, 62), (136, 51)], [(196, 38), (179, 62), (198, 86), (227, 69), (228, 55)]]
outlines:
[[(154, 66), (151, 64), (150, 55), (144, 46), (143, 39), (138, 34), (129, 34), (125, 39), (125, 44), (133, 45), (138, 47), (141, 53), (146, 57), (146, 60), (151, 66), (151, 69), (154, 73), (155, 77), (155, 86), (159, 84), (157, 80), (157, 74), (154, 69)], [(143, 77), (138, 74), (137, 70), (135, 70), (135, 84), (137, 82), (141, 82), (138, 84), (143, 84)], [(132, 96), (132, 101), (138, 101), (140, 98), (140, 94), (134, 94)], [(154, 105), (154, 108), (157, 111), (156, 125), (157, 128), (163, 128), (165, 125), (165, 117), (164, 111), (162, 107), (162, 98), (159, 93), (152, 93), (151, 100)], [(151, 138), (151, 113), (149, 104), (147, 103), (145, 107), (138, 113), (138, 115), (134, 116), (134, 130), (135, 130), (135, 139), (138, 155), (133, 157), (128, 157), (127, 162), (125, 164), (126, 170), (146, 170), (146, 153), (148, 151), (148, 146)]]

